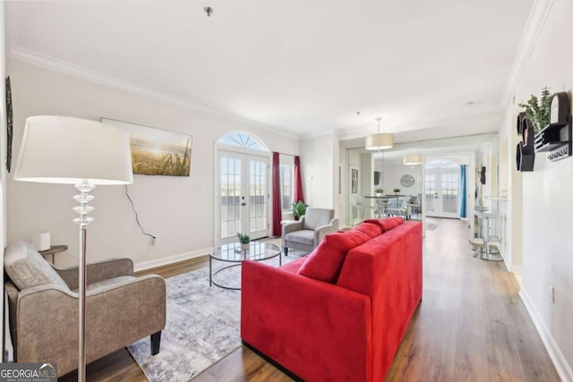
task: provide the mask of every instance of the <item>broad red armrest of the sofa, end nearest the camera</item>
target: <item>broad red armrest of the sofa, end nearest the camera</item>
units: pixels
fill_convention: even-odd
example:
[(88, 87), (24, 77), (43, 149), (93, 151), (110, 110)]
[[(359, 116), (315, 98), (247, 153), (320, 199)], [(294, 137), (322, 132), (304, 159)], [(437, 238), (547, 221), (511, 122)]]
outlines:
[(244, 343), (305, 380), (369, 380), (367, 296), (251, 260), (242, 272)]

